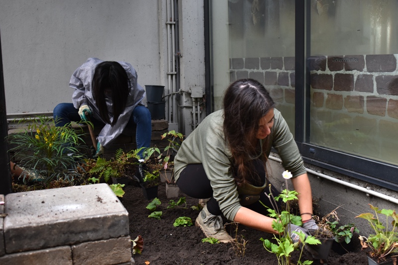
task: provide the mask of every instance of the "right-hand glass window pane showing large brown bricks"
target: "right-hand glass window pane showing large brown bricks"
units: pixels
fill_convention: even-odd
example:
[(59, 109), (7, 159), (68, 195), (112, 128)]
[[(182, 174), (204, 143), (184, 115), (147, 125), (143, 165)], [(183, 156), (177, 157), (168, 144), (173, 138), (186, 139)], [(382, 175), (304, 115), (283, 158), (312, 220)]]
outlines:
[(398, 1), (310, 6), (310, 143), (398, 165)]

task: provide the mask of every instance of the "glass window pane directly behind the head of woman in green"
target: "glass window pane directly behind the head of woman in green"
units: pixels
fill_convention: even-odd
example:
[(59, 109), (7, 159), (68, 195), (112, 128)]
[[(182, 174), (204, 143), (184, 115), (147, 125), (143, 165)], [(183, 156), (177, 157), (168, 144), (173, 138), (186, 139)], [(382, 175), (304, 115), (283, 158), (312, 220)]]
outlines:
[(270, 91), (292, 132), (295, 124), (295, 1), (211, 1), (214, 109), (227, 86), (252, 78)]

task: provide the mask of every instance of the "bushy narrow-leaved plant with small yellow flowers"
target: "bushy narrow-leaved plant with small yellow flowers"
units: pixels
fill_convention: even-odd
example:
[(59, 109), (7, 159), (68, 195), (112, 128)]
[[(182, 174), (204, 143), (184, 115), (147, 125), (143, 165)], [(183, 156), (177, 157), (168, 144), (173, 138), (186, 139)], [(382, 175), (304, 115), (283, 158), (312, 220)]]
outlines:
[(8, 140), (15, 146), (10, 151), (15, 152), (18, 165), (24, 168), (23, 181), (28, 176), (26, 171), (34, 172), (45, 184), (52, 179), (73, 181), (80, 177), (77, 161), (84, 158), (85, 146), (80, 144), (83, 129), (55, 127), (51, 118), (43, 116), (20, 122), (29, 123), (27, 129), (8, 135)]

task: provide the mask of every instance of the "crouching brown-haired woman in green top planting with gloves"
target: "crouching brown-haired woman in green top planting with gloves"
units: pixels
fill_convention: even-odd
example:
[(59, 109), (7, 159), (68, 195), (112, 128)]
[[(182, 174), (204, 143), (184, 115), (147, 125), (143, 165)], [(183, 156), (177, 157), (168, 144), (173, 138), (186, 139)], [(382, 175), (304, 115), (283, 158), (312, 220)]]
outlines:
[[(274, 147), (298, 195), (304, 233), (316, 228), (312, 219), (309, 180), (298, 147), (281, 113), (274, 108), (268, 91), (251, 79), (238, 80), (226, 90), (224, 108), (208, 115), (184, 140), (175, 162), (180, 189), (194, 198), (210, 198), (196, 224), (206, 237), (228, 242), (221, 214), (227, 219), (269, 233), (274, 219), (267, 217), (271, 207), (266, 162)], [(272, 186), (273, 193), (279, 195)], [(264, 192), (265, 191), (265, 192)], [(245, 196), (249, 194), (250, 196)], [(248, 200), (246, 200), (248, 198)]]

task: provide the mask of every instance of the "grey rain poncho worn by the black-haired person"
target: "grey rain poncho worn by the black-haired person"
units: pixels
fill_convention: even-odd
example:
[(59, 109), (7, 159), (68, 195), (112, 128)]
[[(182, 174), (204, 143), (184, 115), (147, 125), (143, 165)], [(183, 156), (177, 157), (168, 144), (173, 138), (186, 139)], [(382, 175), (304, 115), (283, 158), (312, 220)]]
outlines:
[[(98, 64), (102, 63), (98, 58), (89, 58), (86, 63), (76, 69), (71, 77), (69, 87), (75, 88), (75, 92), (72, 95), (72, 101), (75, 108), (79, 109), (82, 105), (89, 105), (92, 110), (93, 117), (97, 120), (105, 123), (105, 126), (100, 131), (97, 140), (103, 147), (106, 147), (110, 142), (119, 136), (127, 125), (130, 119), (133, 109), (141, 102), (145, 96), (145, 90), (137, 83), (137, 73), (134, 68), (125, 62), (118, 62), (124, 70), (126, 70), (127, 76), (130, 80), (130, 92), (128, 94), (127, 103), (124, 111), (120, 114), (117, 122), (114, 126), (110, 126), (100, 117), (100, 111), (97, 107), (96, 100), (93, 98), (92, 93), (92, 82), (94, 71)], [(106, 105), (109, 111), (109, 120), (113, 121), (112, 115), (112, 101), (111, 99), (106, 100)]]

